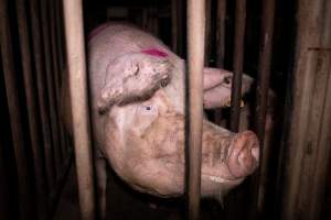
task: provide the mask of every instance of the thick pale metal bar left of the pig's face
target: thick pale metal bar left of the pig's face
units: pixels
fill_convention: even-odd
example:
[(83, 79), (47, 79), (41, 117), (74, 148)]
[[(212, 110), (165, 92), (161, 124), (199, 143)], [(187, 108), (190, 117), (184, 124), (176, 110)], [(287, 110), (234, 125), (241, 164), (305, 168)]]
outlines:
[(82, 0), (63, 0), (81, 217), (95, 218)]

